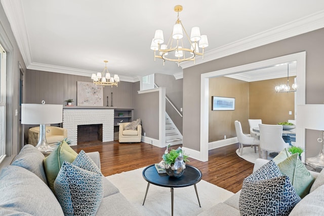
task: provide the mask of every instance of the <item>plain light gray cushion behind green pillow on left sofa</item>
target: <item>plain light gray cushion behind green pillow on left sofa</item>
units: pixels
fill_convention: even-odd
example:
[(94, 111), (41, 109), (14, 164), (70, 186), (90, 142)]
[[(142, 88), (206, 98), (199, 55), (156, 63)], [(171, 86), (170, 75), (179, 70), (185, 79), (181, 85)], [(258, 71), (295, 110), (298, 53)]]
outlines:
[(47, 184), (44, 170), (44, 155), (32, 145), (25, 145), (14, 158), (11, 165), (23, 167), (32, 173), (35, 173), (42, 181)]

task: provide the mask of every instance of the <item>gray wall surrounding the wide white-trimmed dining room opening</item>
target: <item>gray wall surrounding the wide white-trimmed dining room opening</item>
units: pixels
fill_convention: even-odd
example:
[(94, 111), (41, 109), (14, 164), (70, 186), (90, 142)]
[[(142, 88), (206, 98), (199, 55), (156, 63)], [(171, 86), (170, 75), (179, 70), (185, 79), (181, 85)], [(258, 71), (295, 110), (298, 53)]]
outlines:
[[(183, 146), (197, 151), (200, 149), (200, 75), (204, 73), (306, 51), (306, 103), (323, 103), (323, 38), (322, 28), (185, 68), (183, 70)], [(317, 137), (314, 137), (315, 140)], [(306, 157), (316, 155), (319, 149), (320, 145), (314, 143), (313, 139), (306, 139)]]

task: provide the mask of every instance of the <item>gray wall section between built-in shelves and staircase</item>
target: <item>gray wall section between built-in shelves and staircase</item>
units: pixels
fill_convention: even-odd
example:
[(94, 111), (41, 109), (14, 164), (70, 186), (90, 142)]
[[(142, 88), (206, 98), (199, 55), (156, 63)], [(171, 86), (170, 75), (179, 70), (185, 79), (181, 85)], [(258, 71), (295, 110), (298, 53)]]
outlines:
[(142, 135), (158, 139), (158, 92), (138, 94), (140, 82), (134, 83), (134, 119), (142, 120)]

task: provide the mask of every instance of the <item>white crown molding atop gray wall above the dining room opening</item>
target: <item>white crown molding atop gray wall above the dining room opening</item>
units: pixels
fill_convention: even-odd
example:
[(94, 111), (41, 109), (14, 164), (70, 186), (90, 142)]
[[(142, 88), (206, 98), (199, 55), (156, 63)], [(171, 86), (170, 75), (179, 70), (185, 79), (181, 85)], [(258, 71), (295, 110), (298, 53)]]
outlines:
[(251, 37), (207, 51), (205, 52), (204, 59), (201, 57), (196, 58), (195, 64), (193, 62), (186, 61), (180, 63), (180, 66), (184, 69), (276, 41), (291, 38), (322, 27), (324, 27), (324, 11), (311, 14), (293, 22), (289, 22), (287, 24), (252, 35)]

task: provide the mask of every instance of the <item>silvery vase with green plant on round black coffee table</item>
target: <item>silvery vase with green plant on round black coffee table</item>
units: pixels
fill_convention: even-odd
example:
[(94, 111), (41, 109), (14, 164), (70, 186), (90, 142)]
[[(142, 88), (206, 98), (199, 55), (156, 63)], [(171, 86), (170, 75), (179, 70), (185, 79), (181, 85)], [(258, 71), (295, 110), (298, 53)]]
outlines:
[(186, 162), (189, 162), (188, 155), (182, 152), (181, 147), (179, 147), (177, 150), (173, 149), (170, 152), (168, 150), (169, 148), (170, 144), (167, 146), (165, 154), (162, 158), (165, 162), (167, 174), (169, 176), (178, 178), (183, 174), (186, 168)]

